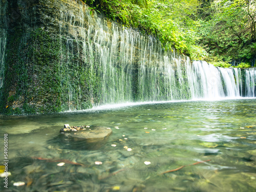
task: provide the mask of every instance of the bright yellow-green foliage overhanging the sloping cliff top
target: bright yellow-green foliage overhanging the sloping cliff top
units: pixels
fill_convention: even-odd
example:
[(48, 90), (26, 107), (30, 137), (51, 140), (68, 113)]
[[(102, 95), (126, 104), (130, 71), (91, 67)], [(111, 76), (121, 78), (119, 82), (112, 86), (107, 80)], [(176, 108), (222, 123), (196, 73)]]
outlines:
[[(89, 6), (123, 26), (138, 28), (159, 38), (165, 49), (203, 58), (205, 52), (195, 45), (198, 0), (87, 0)], [(195, 51), (197, 51), (195, 53)]]

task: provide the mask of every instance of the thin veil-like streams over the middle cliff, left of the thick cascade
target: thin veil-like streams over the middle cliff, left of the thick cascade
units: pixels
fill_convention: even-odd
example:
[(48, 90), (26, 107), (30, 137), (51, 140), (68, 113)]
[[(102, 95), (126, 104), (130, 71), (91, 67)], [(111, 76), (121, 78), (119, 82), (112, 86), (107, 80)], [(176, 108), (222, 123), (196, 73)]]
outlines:
[(93, 105), (190, 98), (188, 57), (164, 50), (154, 37), (99, 18), (86, 5), (80, 4), (76, 14), (60, 10), (59, 20), (61, 100), (68, 103), (63, 109), (79, 109), (82, 103), (73, 81), (80, 78), (75, 74), (80, 67), (87, 73)]

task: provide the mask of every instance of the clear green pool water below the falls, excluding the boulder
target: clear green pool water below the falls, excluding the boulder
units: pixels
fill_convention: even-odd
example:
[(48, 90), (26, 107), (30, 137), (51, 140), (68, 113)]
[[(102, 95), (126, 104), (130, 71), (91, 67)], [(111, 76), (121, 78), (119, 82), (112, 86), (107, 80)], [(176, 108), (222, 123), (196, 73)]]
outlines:
[[(240, 99), (155, 103), (113, 110), (1, 117), (2, 146), (4, 133), (9, 134), (8, 168), (11, 176), (8, 178), (8, 189), (4, 188), (3, 182), (0, 189), (255, 191), (255, 109), (256, 99)], [(113, 133), (106, 143), (93, 144), (90, 147), (94, 150), (87, 150), (84, 143), (74, 145), (59, 137), (59, 130), (67, 123), (111, 127)], [(123, 146), (132, 151), (127, 151)], [(69, 163), (57, 166), (59, 162), (34, 157), (53, 161), (65, 159), (84, 166)], [(4, 160), (3, 150), (0, 160)], [(160, 175), (167, 170), (205, 160), (210, 161)], [(102, 164), (96, 165), (95, 161)], [(146, 165), (145, 161), (151, 164)], [(13, 186), (18, 181), (25, 182), (25, 185)]]

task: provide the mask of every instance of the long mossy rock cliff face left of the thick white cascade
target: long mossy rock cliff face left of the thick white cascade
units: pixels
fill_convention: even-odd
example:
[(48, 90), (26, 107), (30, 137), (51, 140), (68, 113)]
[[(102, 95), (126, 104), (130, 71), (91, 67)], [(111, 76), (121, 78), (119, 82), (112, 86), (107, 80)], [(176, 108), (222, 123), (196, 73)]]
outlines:
[(0, 20), (1, 113), (189, 98), (186, 57), (79, 0), (2, 0)]

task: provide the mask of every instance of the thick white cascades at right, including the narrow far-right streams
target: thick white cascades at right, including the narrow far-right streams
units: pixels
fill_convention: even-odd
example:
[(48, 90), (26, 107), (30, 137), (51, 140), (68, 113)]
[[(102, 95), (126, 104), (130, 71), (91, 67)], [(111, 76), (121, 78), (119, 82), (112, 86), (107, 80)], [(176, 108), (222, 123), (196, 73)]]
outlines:
[(219, 68), (194, 61), (192, 69), (193, 99), (255, 97), (255, 68), (244, 69), (243, 76), (240, 68)]

